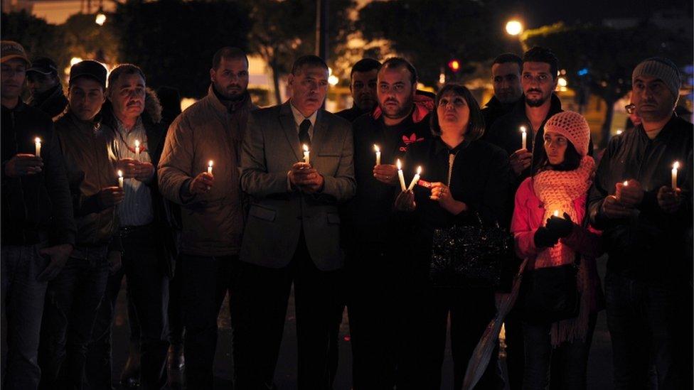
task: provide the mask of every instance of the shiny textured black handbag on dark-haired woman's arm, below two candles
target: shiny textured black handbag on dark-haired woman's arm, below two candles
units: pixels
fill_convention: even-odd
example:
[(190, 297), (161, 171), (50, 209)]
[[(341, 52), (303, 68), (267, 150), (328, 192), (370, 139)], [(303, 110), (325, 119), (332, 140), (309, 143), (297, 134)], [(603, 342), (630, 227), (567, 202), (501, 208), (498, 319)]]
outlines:
[(434, 286), (496, 287), (502, 266), (513, 257), (513, 236), (499, 227), (454, 225), (434, 229), (429, 280)]

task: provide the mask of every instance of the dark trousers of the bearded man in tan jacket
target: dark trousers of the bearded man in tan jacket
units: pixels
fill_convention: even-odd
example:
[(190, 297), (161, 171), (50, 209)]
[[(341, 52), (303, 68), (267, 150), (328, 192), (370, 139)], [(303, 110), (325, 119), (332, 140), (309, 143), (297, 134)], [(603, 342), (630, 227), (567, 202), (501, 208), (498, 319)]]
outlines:
[[(186, 384), (188, 390), (214, 389), (217, 317), (230, 290), (238, 256), (181, 254), (183, 323), (186, 327)], [(233, 297), (233, 295), (230, 295)], [(251, 297), (250, 300), (253, 300)], [(233, 317), (232, 317), (233, 318)], [(240, 389), (235, 387), (235, 389)]]

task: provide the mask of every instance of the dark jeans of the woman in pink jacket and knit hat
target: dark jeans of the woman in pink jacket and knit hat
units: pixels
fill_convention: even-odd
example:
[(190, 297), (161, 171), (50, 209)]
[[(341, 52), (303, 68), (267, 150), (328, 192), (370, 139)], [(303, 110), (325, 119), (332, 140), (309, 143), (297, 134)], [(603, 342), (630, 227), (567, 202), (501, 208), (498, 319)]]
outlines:
[(523, 322), (523, 389), (586, 389), (588, 351), (596, 319), (597, 313), (592, 313), (584, 341), (563, 342), (556, 348), (552, 348), (550, 340), (552, 324)]

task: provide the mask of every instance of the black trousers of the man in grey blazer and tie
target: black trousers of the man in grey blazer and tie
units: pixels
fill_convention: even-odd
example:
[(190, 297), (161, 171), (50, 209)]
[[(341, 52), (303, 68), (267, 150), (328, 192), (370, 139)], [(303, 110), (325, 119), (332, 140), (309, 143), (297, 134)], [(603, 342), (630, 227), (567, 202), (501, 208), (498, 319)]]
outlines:
[[(336, 351), (333, 343), (341, 316), (341, 271), (317, 269), (303, 234), (288, 266), (269, 269), (240, 261), (235, 271), (230, 301), (235, 388), (272, 388), (294, 282), (299, 389), (331, 389), (337, 367), (331, 351)], [(186, 329), (186, 340), (188, 335)]]

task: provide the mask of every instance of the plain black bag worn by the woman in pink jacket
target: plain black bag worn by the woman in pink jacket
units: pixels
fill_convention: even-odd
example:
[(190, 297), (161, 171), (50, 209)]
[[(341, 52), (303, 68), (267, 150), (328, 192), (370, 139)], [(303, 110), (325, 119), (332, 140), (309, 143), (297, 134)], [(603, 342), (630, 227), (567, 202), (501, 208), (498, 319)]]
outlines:
[(523, 272), (520, 307), (528, 323), (555, 323), (578, 316), (581, 294), (578, 291), (578, 269), (581, 256), (572, 264)]

